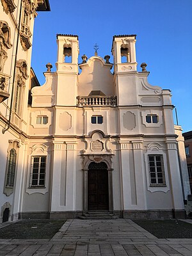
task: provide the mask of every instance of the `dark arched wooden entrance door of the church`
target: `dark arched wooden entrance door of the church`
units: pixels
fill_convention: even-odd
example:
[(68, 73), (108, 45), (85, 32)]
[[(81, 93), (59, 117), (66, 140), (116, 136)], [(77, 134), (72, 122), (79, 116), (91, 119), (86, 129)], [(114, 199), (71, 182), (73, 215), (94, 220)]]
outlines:
[(109, 210), (108, 166), (104, 162), (88, 166), (88, 211)]

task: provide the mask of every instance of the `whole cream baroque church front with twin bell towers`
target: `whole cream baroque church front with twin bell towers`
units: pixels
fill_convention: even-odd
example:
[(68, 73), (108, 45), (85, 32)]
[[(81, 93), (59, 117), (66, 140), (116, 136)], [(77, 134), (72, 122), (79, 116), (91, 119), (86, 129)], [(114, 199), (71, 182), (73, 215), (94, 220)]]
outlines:
[(113, 36), (113, 63), (95, 52), (78, 64), (76, 35), (57, 44), (56, 72), (48, 63), (31, 90), (25, 132), (4, 137), (1, 207), (17, 205), (12, 219), (184, 218), (172, 95), (148, 83), (145, 63), (137, 70), (136, 35)]

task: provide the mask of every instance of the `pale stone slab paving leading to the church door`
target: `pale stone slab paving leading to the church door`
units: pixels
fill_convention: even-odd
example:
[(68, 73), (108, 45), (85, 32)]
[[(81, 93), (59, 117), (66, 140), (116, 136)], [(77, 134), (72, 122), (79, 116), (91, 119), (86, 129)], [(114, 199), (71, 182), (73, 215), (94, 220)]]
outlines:
[(192, 239), (157, 239), (131, 220), (67, 220), (52, 239), (0, 239), (0, 256), (192, 256)]

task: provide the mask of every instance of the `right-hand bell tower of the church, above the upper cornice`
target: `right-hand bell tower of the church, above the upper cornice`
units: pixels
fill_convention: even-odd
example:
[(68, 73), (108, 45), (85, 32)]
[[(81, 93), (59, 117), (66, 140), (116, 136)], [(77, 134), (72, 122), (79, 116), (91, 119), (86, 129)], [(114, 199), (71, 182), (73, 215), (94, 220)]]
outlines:
[(113, 36), (112, 54), (116, 96), (119, 106), (137, 104), (136, 35)]

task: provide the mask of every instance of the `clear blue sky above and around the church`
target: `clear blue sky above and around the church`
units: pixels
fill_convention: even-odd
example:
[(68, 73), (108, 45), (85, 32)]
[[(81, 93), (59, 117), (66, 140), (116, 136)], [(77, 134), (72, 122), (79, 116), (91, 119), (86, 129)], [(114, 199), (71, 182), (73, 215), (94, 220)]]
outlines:
[[(192, 0), (49, 0), (51, 12), (35, 19), (31, 66), (44, 84), (45, 65), (55, 71), (56, 34), (79, 36), (81, 56), (111, 56), (113, 35), (136, 34), (138, 71), (147, 63), (148, 82), (172, 90), (179, 125), (192, 130)], [(175, 119), (175, 111), (173, 111)], [(175, 121), (176, 124), (176, 121)]]

